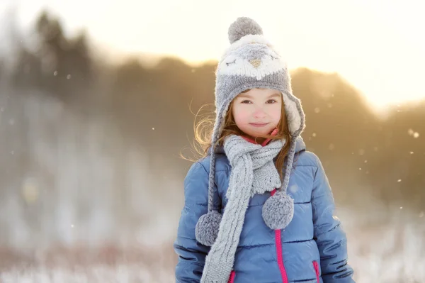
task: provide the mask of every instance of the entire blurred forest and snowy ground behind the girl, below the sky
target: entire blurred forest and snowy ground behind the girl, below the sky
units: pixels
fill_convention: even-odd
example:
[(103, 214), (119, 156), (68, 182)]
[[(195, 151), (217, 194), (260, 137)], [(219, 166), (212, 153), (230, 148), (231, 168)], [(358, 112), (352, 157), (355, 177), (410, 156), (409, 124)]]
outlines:
[[(179, 154), (212, 103), (216, 62), (108, 62), (52, 13), (3, 30), (0, 282), (174, 282), (191, 165)], [(425, 101), (378, 115), (339, 74), (305, 68), (293, 90), (356, 282), (425, 282)]]

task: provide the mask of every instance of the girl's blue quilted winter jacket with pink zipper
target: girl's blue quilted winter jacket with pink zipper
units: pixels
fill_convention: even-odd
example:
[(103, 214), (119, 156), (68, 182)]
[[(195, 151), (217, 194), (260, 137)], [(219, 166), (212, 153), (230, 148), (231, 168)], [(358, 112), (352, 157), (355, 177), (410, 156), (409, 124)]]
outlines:
[[(353, 283), (347, 262), (346, 234), (334, 216), (334, 198), (319, 158), (297, 139), (288, 194), (294, 199), (293, 220), (282, 231), (266, 226), (261, 209), (271, 193), (251, 198), (234, 260), (234, 283)], [(176, 282), (200, 282), (210, 247), (196, 241), (195, 226), (208, 209), (210, 157), (194, 163), (184, 180), (185, 204), (181, 211), (174, 250), (179, 255)], [(216, 155), (217, 194), (225, 208), (231, 167), (224, 152)]]

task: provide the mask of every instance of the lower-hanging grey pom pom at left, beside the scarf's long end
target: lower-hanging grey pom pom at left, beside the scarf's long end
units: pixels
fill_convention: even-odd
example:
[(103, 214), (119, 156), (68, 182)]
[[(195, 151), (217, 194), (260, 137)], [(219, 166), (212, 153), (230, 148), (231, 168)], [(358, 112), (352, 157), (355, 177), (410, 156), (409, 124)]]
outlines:
[(212, 246), (217, 239), (222, 215), (217, 211), (210, 211), (200, 216), (195, 227), (196, 240), (207, 246)]

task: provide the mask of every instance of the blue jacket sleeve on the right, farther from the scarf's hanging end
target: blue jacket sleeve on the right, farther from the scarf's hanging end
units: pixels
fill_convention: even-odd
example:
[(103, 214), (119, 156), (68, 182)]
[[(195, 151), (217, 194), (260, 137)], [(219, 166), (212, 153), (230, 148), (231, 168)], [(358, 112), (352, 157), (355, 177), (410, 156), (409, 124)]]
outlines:
[(314, 240), (320, 253), (324, 283), (354, 283), (353, 269), (348, 265), (346, 233), (334, 216), (335, 203), (322, 162), (316, 156), (317, 171), (312, 190)]

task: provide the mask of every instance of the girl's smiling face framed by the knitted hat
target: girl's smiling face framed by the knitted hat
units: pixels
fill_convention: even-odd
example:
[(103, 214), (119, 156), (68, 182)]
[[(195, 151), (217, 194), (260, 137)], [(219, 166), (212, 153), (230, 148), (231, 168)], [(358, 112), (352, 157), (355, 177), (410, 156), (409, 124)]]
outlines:
[(276, 89), (250, 89), (233, 101), (232, 115), (238, 128), (256, 138), (278, 126), (282, 110), (282, 93)]

